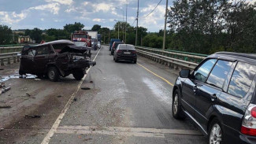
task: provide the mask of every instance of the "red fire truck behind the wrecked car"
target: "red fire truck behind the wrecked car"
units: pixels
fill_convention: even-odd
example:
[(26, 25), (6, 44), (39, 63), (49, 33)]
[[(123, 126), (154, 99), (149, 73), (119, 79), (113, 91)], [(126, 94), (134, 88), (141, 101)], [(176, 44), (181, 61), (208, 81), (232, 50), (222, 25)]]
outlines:
[(91, 47), (91, 39), (87, 31), (75, 31), (71, 34), (72, 42), (86, 42), (87, 46)]

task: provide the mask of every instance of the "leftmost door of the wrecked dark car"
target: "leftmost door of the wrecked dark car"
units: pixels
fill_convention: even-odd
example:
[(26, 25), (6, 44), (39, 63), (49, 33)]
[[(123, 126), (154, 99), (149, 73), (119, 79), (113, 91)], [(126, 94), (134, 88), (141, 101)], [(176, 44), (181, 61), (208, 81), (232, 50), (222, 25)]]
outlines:
[(33, 73), (34, 72), (34, 56), (35, 48), (29, 48), (28, 50), (23, 51), (20, 57), (20, 68), (24, 73)]

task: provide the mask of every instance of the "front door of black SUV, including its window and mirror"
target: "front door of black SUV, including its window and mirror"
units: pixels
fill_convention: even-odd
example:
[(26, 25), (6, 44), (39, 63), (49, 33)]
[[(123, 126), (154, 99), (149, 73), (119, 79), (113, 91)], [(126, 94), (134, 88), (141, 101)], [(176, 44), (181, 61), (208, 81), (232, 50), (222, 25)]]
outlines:
[(181, 103), (184, 109), (193, 117), (195, 116), (195, 94), (197, 93), (198, 83), (206, 82), (206, 78), (216, 61), (216, 59), (202, 61), (201, 65), (195, 68), (195, 72), (191, 74), (191, 77), (184, 81)]

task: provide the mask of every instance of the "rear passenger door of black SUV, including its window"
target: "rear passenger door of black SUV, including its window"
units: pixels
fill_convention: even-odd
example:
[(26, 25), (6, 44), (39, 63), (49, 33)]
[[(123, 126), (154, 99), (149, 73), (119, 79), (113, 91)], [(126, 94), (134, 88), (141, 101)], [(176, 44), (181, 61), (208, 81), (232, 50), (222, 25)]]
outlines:
[(210, 72), (206, 83), (198, 82), (195, 93), (195, 119), (207, 129), (207, 113), (213, 111), (213, 105), (217, 105), (224, 86), (232, 75), (232, 61), (218, 60)]

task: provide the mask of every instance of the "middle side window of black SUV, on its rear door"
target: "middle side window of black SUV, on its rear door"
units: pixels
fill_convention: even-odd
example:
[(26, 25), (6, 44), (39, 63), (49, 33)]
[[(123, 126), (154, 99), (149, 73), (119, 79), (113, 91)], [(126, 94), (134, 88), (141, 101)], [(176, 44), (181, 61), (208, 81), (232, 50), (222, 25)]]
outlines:
[(228, 83), (228, 73), (231, 71), (231, 67), (232, 62), (230, 61), (217, 61), (206, 83), (222, 88), (224, 83)]

